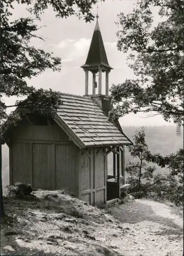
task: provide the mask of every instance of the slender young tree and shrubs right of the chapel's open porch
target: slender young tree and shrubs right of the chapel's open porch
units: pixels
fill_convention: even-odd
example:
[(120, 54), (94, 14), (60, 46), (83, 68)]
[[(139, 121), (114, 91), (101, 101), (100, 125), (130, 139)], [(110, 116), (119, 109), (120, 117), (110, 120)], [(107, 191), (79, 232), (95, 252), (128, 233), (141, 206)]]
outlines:
[[(133, 142), (134, 145), (128, 146), (128, 150), (137, 161), (129, 162), (125, 169), (129, 175), (127, 183), (130, 184), (127, 193), (135, 198), (153, 197), (156, 200), (168, 200), (176, 205), (183, 205), (183, 175), (175, 177), (176, 172), (173, 173), (172, 169), (178, 153), (172, 154), (170, 158), (167, 157), (170, 173), (155, 174), (156, 167), (149, 166), (150, 159), (147, 156), (148, 154), (154, 156), (148, 151), (143, 128), (136, 131)], [(180, 158), (178, 162), (180, 163)], [(178, 162), (176, 161), (174, 166), (179, 166)]]

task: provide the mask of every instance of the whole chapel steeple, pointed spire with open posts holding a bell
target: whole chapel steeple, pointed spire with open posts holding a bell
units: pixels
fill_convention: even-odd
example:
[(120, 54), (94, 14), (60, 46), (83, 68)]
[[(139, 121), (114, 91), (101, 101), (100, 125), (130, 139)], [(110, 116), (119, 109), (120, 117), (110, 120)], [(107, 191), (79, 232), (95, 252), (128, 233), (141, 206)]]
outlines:
[[(81, 68), (84, 69), (86, 73), (86, 82), (85, 82), (85, 95), (89, 93), (89, 71), (93, 74), (93, 93), (95, 95), (95, 89), (97, 88), (96, 76), (98, 76), (98, 95), (101, 95), (101, 86), (102, 86), (102, 72), (106, 72), (106, 96), (109, 95), (109, 72), (113, 69), (109, 66), (108, 58), (106, 55), (106, 50), (103, 45), (103, 39), (101, 36), (99, 24), (98, 24), (98, 13), (96, 15), (96, 26), (94, 28), (93, 37), (91, 40), (90, 49), (86, 59), (85, 65)], [(98, 75), (96, 75), (98, 73)]]

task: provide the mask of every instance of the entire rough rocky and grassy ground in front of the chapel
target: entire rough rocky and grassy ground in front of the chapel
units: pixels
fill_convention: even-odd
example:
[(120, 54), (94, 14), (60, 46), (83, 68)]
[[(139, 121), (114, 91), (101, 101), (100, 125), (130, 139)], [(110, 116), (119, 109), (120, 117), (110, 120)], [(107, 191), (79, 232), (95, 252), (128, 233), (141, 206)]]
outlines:
[(183, 212), (148, 200), (106, 209), (61, 194), (5, 198), (13, 222), (1, 223), (1, 255), (182, 256)]

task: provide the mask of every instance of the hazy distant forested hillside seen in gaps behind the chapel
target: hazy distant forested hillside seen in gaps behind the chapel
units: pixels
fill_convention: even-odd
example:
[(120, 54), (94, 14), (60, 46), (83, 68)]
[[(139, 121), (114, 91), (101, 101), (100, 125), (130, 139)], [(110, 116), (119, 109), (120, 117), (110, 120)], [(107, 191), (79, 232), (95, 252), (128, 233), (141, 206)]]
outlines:
[[(136, 130), (141, 126), (122, 126), (124, 134), (133, 139)], [(153, 154), (160, 153), (163, 156), (176, 152), (179, 148), (183, 148), (183, 129), (181, 128), (181, 135), (176, 134), (176, 125), (164, 126), (146, 126), (145, 139), (149, 147), (149, 151)], [(3, 145), (3, 187), (9, 184), (9, 149), (7, 145)], [(129, 155), (127, 148), (125, 152), (125, 165), (133, 158)], [(150, 164), (151, 165), (151, 164)], [(108, 173), (112, 173), (112, 155), (108, 159)], [(168, 172), (165, 168), (157, 166), (156, 172)]]

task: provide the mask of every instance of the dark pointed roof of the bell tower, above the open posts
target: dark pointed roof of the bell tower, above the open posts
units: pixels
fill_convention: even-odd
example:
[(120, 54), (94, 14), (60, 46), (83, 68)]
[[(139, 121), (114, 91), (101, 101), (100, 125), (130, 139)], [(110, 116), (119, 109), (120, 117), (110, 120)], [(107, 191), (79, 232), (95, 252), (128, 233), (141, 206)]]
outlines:
[(88, 69), (90, 71), (96, 69), (97, 71), (98, 67), (100, 66), (104, 71), (110, 71), (113, 68), (109, 66), (106, 50), (103, 45), (103, 39), (98, 24), (98, 17), (99, 16), (97, 14), (96, 26), (94, 28), (93, 37), (91, 40), (91, 45), (86, 59), (86, 63), (81, 68)]

